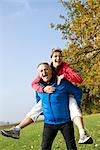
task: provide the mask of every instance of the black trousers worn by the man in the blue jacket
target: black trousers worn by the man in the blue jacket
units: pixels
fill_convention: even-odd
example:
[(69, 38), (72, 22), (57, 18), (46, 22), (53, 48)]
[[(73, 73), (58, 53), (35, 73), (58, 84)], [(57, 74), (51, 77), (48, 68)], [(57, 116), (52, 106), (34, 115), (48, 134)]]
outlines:
[(59, 130), (65, 139), (67, 149), (77, 150), (72, 121), (57, 125), (45, 123), (43, 129), (42, 150), (51, 150), (52, 143)]

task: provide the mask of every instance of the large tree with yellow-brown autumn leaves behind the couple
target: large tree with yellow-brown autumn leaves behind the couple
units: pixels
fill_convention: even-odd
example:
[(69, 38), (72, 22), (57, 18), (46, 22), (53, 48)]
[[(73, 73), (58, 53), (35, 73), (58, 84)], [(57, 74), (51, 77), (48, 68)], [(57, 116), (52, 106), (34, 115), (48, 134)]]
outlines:
[(63, 24), (51, 23), (51, 27), (61, 31), (68, 45), (63, 50), (64, 61), (84, 78), (81, 87), (86, 93), (84, 103), (87, 105), (100, 99), (100, 1), (60, 2), (67, 15), (60, 15)]

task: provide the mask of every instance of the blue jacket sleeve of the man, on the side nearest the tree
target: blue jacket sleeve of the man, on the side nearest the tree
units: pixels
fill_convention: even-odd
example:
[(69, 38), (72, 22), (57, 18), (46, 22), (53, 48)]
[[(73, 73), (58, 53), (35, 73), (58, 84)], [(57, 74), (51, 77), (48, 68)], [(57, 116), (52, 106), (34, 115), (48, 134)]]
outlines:
[(78, 106), (80, 107), (81, 98), (82, 98), (82, 90), (68, 81), (66, 81), (66, 90), (69, 94), (72, 94), (74, 96)]

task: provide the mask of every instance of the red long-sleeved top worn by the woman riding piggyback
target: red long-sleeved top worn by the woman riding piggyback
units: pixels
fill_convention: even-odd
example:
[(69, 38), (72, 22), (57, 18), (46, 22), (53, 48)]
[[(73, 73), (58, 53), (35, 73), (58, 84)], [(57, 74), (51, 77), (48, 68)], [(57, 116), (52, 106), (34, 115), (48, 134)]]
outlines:
[[(53, 72), (56, 75), (64, 74), (64, 78), (70, 82), (74, 83), (82, 83), (81, 76), (76, 73), (67, 63), (62, 62), (58, 68), (54, 68), (51, 64)], [(43, 87), (39, 85), (40, 77), (36, 77), (36, 79), (32, 82), (32, 87), (35, 91), (43, 92)]]

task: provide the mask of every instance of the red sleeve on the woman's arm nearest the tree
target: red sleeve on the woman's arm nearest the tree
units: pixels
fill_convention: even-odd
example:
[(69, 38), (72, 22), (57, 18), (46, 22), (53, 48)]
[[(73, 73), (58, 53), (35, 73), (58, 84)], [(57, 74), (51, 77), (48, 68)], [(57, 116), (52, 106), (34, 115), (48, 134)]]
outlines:
[(76, 73), (69, 65), (64, 65), (64, 78), (73, 83), (82, 83), (81, 76)]

